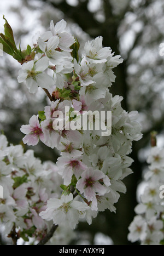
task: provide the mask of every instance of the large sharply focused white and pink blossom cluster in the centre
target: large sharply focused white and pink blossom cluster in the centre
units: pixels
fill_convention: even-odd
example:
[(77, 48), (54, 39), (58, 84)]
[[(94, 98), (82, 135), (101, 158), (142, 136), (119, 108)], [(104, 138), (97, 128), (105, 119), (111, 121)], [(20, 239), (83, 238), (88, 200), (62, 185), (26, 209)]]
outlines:
[[(65, 28), (66, 21), (55, 26), (51, 21), (50, 31), (34, 44), (35, 59), (22, 64), (18, 81), (26, 81), (31, 93), (40, 86), (51, 95), (50, 105), (33, 115), (28, 125), (22, 125), (24, 143), (36, 145), (41, 140), (61, 151), (56, 164), (63, 178), (62, 196), (50, 198), (39, 215), (74, 229), (81, 218), (91, 224), (99, 211), (115, 212), (119, 192), (126, 192), (122, 179), (132, 173), (133, 160), (127, 155), (132, 141), (142, 134), (137, 111), (126, 112), (121, 107), (122, 97), (109, 93), (115, 81), (113, 68), (122, 62), (120, 55), (113, 56), (109, 47), (102, 46), (102, 37), (97, 37), (86, 42), (79, 61), (79, 43)], [(86, 110), (112, 111), (112, 134), (102, 136), (101, 129), (83, 126), (68, 129)], [(60, 129), (54, 123), (58, 111), (65, 114)], [(94, 124), (93, 116), (89, 115), (87, 122)]]

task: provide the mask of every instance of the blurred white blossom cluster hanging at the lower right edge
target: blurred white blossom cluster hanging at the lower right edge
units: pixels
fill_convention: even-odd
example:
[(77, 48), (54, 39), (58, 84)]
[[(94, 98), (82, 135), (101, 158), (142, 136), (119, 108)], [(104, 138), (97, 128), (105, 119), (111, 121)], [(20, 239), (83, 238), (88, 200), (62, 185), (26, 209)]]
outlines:
[[(145, 187), (140, 202), (134, 209), (136, 216), (128, 227), (128, 240), (142, 245), (160, 245), (164, 238), (164, 201), (160, 187), (164, 185), (164, 149), (151, 148), (144, 174)], [(163, 186), (164, 187), (164, 186)]]

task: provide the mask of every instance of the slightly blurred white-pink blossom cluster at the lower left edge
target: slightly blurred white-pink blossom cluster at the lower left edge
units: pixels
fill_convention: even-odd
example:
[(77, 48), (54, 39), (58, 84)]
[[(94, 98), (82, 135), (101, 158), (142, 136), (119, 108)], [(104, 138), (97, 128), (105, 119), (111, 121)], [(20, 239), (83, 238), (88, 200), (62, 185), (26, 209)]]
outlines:
[[(3, 198), (0, 199), (0, 223), (5, 225), (5, 234), (28, 241), (28, 237), (42, 239), (50, 229), (39, 213), (46, 209), (49, 198), (61, 196), (61, 177), (55, 163), (44, 162), (34, 157), (33, 150), (21, 145), (9, 145), (0, 135), (0, 184)], [(14, 230), (13, 230), (14, 228)]]

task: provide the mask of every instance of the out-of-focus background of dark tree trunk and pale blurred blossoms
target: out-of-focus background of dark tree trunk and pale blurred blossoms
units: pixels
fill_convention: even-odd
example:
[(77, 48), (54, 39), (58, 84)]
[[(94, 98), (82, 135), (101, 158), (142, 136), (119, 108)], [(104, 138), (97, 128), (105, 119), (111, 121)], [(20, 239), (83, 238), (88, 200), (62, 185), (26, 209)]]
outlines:
[[(34, 43), (32, 37), (39, 30), (49, 30), (54, 23), (65, 19), (70, 32), (78, 37), (80, 49), (88, 39), (103, 37), (104, 47), (111, 47), (124, 58), (115, 68), (116, 81), (110, 88), (113, 95), (122, 95), (126, 111), (139, 111), (143, 139), (133, 143), (131, 157), (133, 174), (125, 179), (127, 192), (116, 204), (116, 214), (99, 213), (91, 226), (80, 223), (79, 235), (73, 244), (93, 244), (101, 233), (101, 243), (130, 244), (128, 225), (134, 217), (137, 204), (136, 190), (150, 147), (150, 132), (159, 133), (163, 144), (164, 119), (164, 56), (160, 56), (160, 43), (164, 42), (163, 0), (6, 0), (0, 3), (0, 29), (3, 32), (3, 14), (13, 28), (17, 45), (21, 48)], [(0, 57), (0, 129), (9, 143), (22, 143), (22, 124), (49, 102), (40, 88), (35, 95), (28, 93), (25, 84), (17, 83), (20, 64), (11, 56)], [(25, 150), (29, 146), (25, 146)], [(56, 162), (58, 152), (39, 143), (32, 147), (42, 161)], [(106, 236), (104, 236), (106, 235)], [(98, 244), (98, 242), (97, 242)]]

